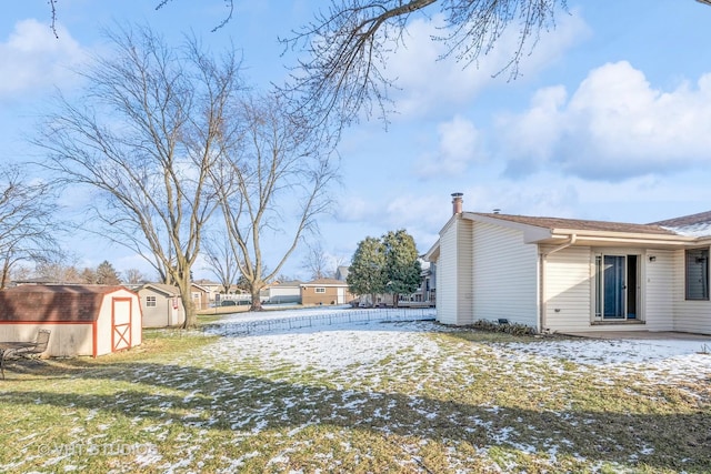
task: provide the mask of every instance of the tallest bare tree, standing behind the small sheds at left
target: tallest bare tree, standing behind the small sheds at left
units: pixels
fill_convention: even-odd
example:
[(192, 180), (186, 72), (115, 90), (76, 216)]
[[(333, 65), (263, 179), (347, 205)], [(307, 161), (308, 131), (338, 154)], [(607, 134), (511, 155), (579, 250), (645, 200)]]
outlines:
[(78, 100), (59, 98), (36, 144), (63, 184), (83, 184), (100, 199), (91, 215), (104, 235), (149, 261), (176, 284), (186, 326), (197, 322), (191, 266), (217, 208), (207, 179), (220, 159), (226, 117), (241, 89), (233, 51), (220, 60), (197, 40), (170, 48), (148, 28), (109, 32), (114, 47), (83, 72)]

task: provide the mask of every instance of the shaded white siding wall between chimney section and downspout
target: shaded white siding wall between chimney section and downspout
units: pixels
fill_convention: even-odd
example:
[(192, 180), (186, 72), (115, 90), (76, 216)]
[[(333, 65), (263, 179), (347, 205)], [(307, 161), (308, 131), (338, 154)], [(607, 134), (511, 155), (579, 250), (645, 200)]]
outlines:
[(473, 317), (538, 327), (538, 245), (522, 231), (477, 222), (473, 249)]

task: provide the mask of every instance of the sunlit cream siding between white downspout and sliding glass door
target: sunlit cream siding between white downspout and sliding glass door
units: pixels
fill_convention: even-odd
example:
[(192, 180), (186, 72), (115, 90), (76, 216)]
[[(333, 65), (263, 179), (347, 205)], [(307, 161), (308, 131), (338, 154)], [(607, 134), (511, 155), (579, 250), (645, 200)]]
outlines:
[[(543, 249), (544, 252), (551, 249)], [(544, 330), (590, 330), (592, 270), (589, 246), (569, 246), (545, 258), (543, 282)]]

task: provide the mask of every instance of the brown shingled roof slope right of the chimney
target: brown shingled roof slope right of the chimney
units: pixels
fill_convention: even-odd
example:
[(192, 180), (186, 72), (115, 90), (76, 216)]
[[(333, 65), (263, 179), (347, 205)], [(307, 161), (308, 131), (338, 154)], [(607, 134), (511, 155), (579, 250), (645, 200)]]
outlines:
[(534, 218), (527, 215), (509, 215), (474, 212), (475, 215), (483, 215), (491, 219), (518, 222), (525, 225), (534, 225), (549, 230), (567, 229), (580, 231), (601, 231), (601, 232), (623, 232), (638, 234), (659, 234), (674, 235), (675, 232), (665, 229), (659, 224), (630, 224), (623, 222), (608, 221), (587, 221), (580, 219), (561, 219), (561, 218)]

